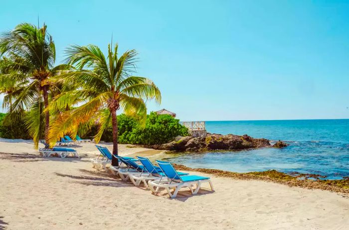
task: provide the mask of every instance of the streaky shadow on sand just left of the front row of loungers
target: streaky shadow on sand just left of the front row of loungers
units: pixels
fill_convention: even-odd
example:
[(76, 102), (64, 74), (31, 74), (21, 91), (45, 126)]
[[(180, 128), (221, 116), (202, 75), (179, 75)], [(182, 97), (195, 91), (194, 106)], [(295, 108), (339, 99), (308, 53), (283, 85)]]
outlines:
[[(106, 186), (106, 187), (130, 187), (130, 184), (125, 183), (121, 179), (116, 179), (115, 177), (109, 175), (105, 172), (94, 172), (86, 169), (80, 169), (80, 172), (88, 174), (88, 176), (78, 176), (78, 175), (69, 175), (63, 173), (55, 173), (60, 177), (69, 177), (74, 179), (74, 181), (70, 181), (70, 183), (77, 183), (82, 185), (92, 185), (92, 186)], [(95, 176), (91, 176), (95, 175)]]

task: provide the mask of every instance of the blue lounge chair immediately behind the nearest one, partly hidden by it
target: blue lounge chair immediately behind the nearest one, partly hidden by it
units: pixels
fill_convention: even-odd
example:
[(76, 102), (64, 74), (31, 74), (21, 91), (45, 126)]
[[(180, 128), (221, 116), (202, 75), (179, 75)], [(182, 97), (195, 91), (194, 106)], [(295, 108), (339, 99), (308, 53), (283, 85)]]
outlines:
[[(146, 173), (143, 172), (141, 174), (130, 175), (130, 180), (135, 186), (139, 186), (143, 182), (145, 187), (149, 189), (148, 181), (159, 180), (161, 182), (163, 177), (166, 179), (166, 176), (161, 168), (153, 165), (153, 163), (147, 157), (137, 156), (137, 159), (144, 166), (144, 171), (146, 171)], [(188, 173), (178, 172), (178, 175), (183, 176), (188, 175)]]

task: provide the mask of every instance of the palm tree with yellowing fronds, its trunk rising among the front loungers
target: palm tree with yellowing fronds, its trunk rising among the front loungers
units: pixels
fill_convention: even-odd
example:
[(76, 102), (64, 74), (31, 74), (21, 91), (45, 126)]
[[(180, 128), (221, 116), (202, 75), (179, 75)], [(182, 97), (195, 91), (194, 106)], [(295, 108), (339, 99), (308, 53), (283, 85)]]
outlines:
[[(67, 49), (66, 61), (76, 67), (76, 71), (66, 74), (58, 81), (74, 82), (80, 88), (62, 93), (50, 105), (50, 109), (62, 107), (63, 103), (84, 102), (80, 107), (60, 113), (57, 122), (51, 126), (50, 140), (54, 142), (69, 131), (74, 136), (77, 127), (84, 126), (91, 120), (100, 123), (95, 140), (98, 143), (105, 128), (112, 123), (113, 155), (118, 155), (118, 120), (117, 111), (122, 108), (125, 114), (135, 115), (145, 121), (147, 108), (144, 100), (155, 99), (161, 102), (161, 93), (150, 79), (136, 77), (135, 50), (129, 50), (118, 56), (118, 45), (114, 49), (108, 45), (106, 58), (95, 45), (74, 45)], [(86, 125), (85, 125), (86, 126)], [(113, 157), (112, 165), (118, 165)]]

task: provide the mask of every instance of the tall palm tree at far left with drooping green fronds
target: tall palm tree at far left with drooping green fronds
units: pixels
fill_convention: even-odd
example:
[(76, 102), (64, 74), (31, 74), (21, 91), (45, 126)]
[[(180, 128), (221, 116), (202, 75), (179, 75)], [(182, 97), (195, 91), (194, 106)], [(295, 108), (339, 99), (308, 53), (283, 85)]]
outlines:
[(66, 69), (67, 65), (54, 67), (55, 45), (52, 36), (47, 33), (47, 26), (44, 24), (38, 28), (29, 23), (22, 23), (13, 30), (2, 33), (0, 55), (5, 56), (0, 60), (0, 66), (16, 73), (13, 75), (15, 79), (27, 81), (25, 87), (13, 95), (14, 102), (10, 105), (10, 112), (29, 110), (25, 123), (35, 147), (38, 146), (43, 125), (45, 140), (48, 143), (50, 113), (48, 110), (44, 112), (44, 122), (42, 113), (43, 107), (47, 108), (49, 104), (49, 93), (53, 86), (50, 78)]

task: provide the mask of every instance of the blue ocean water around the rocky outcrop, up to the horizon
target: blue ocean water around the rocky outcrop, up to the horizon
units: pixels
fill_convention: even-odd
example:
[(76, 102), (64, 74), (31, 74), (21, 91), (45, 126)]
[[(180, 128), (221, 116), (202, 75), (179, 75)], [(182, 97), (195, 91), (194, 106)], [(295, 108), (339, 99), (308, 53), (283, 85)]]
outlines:
[(349, 119), (207, 121), (206, 129), (211, 133), (280, 139), (290, 146), (177, 154), (168, 160), (192, 168), (233, 172), (276, 169), (320, 174), (326, 179), (349, 176)]

